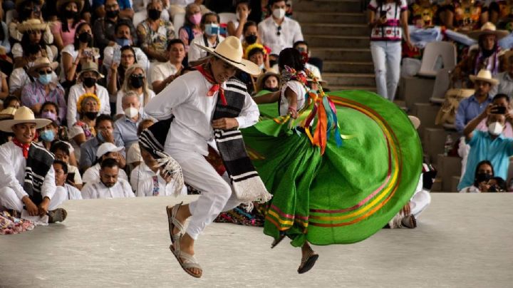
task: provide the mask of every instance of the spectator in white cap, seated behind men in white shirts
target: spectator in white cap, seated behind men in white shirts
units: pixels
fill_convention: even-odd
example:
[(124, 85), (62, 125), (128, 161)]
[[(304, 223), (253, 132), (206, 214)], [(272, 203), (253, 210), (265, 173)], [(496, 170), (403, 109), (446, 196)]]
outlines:
[[(124, 151), (125, 149), (123, 147), (116, 147), (116, 145), (114, 145), (113, 143), (103, 143), (102, 145), (100, 145), (100, 147), (98, 148), (98, 152), (96, 153), (97, 158), (95, 161), (95, 165), (91, 166), (90, 168), (88, 168), (88, 170), (86, 170), (86, 172), (84, 172), (82, 178), (83, 182), (89, 183), (100, 181), (100, 168), (104, 160), (114, 159), (116, 160), (118, 165), (120, 161), (123, 162), (124, 165), (125, 158), (123, 158), (123, 155), (120, 154), (120, 152)], [(118, 175), (119, 178), (128, 181), (128, 176), (126, 175), (125, 170), (120, 169)]]

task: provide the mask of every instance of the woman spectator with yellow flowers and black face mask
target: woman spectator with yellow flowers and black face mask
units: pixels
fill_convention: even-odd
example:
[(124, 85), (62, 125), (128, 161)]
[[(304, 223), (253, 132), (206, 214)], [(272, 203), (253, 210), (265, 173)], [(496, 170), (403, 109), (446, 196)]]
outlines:
[(94, 94), (83, 94), (77, 101), (77, 111), (80, 118), (71, 126), (68, 136), (71, 139), (71, 145), (75, 150), (75, 158), (81, 158), (82, 143), (94, 138), (95, 119), (100, 110), (100, 99)]

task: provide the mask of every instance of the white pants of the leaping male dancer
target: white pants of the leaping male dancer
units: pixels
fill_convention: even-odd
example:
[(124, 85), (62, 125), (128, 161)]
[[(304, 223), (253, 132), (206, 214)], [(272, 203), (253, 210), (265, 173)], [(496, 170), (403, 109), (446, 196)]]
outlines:
[(192, 239), (197, 240), (220, 212), (232, 210), (240, 204), (240, 200), (232, 192), (228, 178), (219, 176), (203, 155), (178, 149), (168, 149), (166, 152), (182, 166), (185, 182), (201, 191), (198, 200), (189, 205), (192, 216), (186, 231)]

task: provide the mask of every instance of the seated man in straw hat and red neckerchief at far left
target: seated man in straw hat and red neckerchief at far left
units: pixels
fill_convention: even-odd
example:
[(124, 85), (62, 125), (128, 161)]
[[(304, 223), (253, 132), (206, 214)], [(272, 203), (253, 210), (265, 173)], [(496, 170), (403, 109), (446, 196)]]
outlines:
[(14, 119), (0, 121), (0, 130), (14, 133), (12, 141), (0, 146), (0, 207), (34, 222), (61, 222), (67, 215), (57, 208), (66, 195), (56, 191), (53, 155), (32, 142), (36, 129), (50, 122), (34, 118), (24, 106)]

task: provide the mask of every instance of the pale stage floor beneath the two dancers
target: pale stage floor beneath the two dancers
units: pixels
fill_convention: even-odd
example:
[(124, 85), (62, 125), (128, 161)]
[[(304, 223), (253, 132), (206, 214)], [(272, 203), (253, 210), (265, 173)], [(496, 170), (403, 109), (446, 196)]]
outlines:
[(417, 229), (315, 247), (301, 275), (287, 241), (271, 250), (261, 228), (214, 223), (196, 246), (201, 279), (168, 248), (173, 202), (66, 202), (64, 223), (0, 236), (0, 287), (513, 287), (513, 193), (433, 193)]

